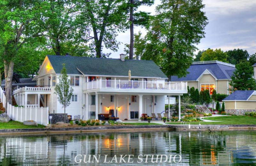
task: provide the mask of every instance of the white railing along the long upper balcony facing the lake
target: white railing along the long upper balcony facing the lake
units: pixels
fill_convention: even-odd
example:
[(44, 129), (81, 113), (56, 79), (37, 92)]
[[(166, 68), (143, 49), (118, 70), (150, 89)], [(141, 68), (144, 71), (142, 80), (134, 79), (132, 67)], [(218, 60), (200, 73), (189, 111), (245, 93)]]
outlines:
[(153, 82), (153, 81), (123, 81), (97, 80), (85, 82), (84, 89), (158, 89), (158, 90), (187, 90), (187, 82)]

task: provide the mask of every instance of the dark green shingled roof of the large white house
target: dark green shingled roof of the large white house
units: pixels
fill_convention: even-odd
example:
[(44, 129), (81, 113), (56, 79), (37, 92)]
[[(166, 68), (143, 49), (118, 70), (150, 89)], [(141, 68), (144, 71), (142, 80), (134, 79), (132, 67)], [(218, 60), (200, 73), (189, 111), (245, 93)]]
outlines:
[(68, 74), (127, 76), (129, 69), (132, 77), (157, 77), (167, 79), (166, 75), (153, 61), (125, 60), (111, 58), (72, 57), (48, 55), (56, 73), (60, 73), (62, 64), (66, 64)]

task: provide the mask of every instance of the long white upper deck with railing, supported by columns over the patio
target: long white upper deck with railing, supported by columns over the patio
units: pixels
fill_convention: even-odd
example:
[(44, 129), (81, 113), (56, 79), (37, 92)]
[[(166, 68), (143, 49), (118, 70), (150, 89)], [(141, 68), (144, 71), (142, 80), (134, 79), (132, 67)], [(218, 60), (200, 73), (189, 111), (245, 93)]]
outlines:
[(187, 93), (187, 82), (97, 80), (85, 82), (83, 90), (101, 92)]

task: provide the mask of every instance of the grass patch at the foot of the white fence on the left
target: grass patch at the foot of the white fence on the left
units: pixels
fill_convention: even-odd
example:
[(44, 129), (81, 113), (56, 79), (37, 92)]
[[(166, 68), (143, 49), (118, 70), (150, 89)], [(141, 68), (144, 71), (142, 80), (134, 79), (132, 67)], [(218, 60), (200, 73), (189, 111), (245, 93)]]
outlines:
[(0, 122), (0, 129), (28, 129), (28, 128), (44, 128), (44, 127), (45, 126), (41, 124), (38, 124), (38, 127), (28, 126), (17, 121), (10, 121), (7, 123)]

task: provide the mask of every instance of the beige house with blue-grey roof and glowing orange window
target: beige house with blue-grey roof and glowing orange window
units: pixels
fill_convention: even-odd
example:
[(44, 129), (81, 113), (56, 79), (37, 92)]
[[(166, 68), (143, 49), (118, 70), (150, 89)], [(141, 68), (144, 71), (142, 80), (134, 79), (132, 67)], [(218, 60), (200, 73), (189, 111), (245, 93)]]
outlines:
[(172, 76), (171, 81), (186, 81), (189, 88), (195, 87), (199, 92), (209, 89), (210, 94), (212, 94), (213, 89), (215, 89), (217, 93), (230, 94), (229, 82), (235, 70), (234, 64), (220, 61), (193, 62), (187, 70), (189, 73), (186, 77)]

